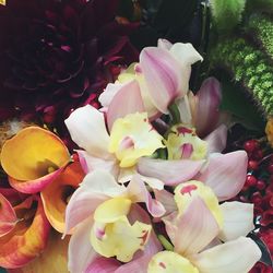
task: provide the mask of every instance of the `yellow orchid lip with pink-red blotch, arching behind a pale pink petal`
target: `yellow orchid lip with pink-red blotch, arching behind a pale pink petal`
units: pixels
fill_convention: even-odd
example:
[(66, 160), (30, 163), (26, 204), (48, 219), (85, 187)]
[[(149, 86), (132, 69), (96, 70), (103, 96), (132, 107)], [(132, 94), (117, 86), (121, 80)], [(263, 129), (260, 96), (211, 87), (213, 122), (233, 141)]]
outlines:
[(223, 226), (223, 214), (219, 209), (218, 199), (213, 190), (203, 182), (191, 180), (179, 185), (175, 189), (175, 201), (178, 211), (182, 214), (195, 197), (201, 198), (215, 217), (219, 228)]

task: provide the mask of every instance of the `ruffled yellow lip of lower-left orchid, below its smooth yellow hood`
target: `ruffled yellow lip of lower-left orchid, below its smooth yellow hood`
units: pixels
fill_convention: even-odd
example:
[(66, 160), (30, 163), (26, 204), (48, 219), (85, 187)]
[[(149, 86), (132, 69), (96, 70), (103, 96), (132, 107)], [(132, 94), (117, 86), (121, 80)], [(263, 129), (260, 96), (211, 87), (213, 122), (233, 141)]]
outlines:
[(117, 257), (121, 262), (129, 262), (139, 249), (144, 249), (150, 238), (151, 225), (135, 222), (131, 225), (126, 216), (105, 226), (103, 238), (98, 238), (93, 227), (91, 244), (103, 257)]

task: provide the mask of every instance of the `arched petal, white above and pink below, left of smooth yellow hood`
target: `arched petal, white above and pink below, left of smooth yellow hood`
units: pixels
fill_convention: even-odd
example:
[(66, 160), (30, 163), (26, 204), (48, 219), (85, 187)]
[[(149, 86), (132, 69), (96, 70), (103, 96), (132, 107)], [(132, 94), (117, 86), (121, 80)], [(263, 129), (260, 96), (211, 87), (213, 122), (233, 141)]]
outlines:
[(85, 176), (80, 188), (72, 194), (66, 211), (66, 233), (94, 213), (109, 197), (120, 195), (124, 188), (104, 170)]

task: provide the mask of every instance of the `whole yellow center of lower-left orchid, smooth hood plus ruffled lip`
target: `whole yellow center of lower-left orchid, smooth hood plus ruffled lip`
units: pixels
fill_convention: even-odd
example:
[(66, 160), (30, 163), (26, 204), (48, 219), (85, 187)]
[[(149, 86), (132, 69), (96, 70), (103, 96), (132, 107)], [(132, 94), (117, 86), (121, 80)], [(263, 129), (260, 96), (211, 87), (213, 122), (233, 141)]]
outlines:
[(138, 250), (143, 250), (151, 233), (151, 225), (127, 218), (131, 201), (114, 198), (102, 203), (95, 211), (95, 224), (91, 230), (91, 244), (103, 257), (116, 257), (129, 262)]

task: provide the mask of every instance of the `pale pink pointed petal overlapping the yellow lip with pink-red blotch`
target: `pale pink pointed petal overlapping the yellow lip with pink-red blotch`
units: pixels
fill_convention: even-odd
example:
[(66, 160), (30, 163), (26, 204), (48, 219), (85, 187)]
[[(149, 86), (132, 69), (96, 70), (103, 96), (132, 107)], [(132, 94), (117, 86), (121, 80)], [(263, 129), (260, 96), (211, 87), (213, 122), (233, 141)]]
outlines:
[(195, 198), (176, 219), (175, 251), (193, 254), (202, 250), (218, 234), (218, 225), (201, 198)]

